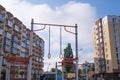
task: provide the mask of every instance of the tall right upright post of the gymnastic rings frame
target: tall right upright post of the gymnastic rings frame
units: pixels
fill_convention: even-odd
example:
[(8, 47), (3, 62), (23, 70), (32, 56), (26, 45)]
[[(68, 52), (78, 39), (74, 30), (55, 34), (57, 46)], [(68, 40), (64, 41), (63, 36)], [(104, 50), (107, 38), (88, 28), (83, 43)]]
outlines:
[(76, 80), (78, 80), (78, 33), (77, 33), (77, 24), (75, 24), (75, 52), (76, 52)]

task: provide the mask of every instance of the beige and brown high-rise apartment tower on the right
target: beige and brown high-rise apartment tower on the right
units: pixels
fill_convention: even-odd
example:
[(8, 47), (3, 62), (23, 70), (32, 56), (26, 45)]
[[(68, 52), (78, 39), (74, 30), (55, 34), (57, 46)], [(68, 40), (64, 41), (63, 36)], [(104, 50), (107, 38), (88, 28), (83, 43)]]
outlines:
[(108, 80), (120, 77), (120, 16), (108, 15), (93, 26), (95, 73)]

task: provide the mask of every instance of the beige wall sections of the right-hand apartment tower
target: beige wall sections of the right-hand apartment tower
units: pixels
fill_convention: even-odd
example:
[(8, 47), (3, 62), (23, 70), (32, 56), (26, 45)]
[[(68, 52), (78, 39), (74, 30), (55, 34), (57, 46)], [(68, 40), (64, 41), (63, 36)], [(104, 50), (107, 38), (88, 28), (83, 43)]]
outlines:
[[(106, 63), (106, 72), (113, 73), (113, 69), (118, 69), (117, 63), (117, 54), (116, 54), (116, 44), (114, 40), (114, 29), (113, 29), (113, 18), (117, 18), (116, 16), (105, 16), (102, 18), (102, 29), (103, 29), (103, 39), (104, 39), (104, 55), (105, 55), (105, 63)], [(120, 17), (119, 17), (120, 21)], [(117, 24), (120, 26), (120, 22)], [(93, 45), (94, 45), (94, 62), (95, 62), (95, 73), (99, 73), (97, 68), (99, 66), (98, 63), (98, 56), (96, 55), (96, 39), (94, 34), (93, 28)], [(120, 27), (118, 28), (118, 35), (119, 35), (119, 42), (120, 42)]]

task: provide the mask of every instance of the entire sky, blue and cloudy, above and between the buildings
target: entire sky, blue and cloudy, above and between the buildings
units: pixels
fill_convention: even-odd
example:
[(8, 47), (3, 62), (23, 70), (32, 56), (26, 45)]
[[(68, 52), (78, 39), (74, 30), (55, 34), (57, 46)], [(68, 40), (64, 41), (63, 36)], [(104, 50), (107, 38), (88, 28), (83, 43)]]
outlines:
[[(30, 28), (31, 19), (39, 23), (78, 25), (79, 63), (94, 62), (92, 26), (95, 21), (106, 15), (120, 15), (119, 0), (0, 0), (0, 4)], [(41, 26), (42, 27), (42, 26)], [(34, 26), (34, 29), (40, 29)], [(48, 54), (48, 27), (36, 32), (45, 41), (44, 70), (49, 71), (60, 62), (60, 29), (51, 28), (51, 59)], [(73, 31), (74, 29), (68, 28)], [(75, 35), (65, 32), (62, 28), (62, 53), (71, 43), (75, 54)], [(80, 50), (82, 48), (82, 50)], [(75, 57), (75, 55), (74, 55)]]

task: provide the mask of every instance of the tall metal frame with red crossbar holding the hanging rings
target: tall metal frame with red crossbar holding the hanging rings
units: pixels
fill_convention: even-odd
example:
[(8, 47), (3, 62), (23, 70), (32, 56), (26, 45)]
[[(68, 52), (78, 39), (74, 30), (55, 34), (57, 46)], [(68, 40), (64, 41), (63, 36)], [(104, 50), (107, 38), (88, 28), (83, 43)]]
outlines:
[[(33, 26), (34, 25), (44, 25), (44, 27), (42, 29), (37, 29), (37, 30), (33, 30)], [(66, 32), (69, 32), (69, 33), (72, 33), (75, 35), (75, 53), (76, 53), (76, 58), (78, 59), (78, 34), (77, 34), (77, 29), (78, 29), (78, 26), (77, 24), (75, 24), (75, 26), (70, 26), (70, 25), (59, 25), (59, 24), (45, 24), (45, 23), (34, 23), (34, 20), (32, 19), (31, 21), (31, 37), (30, 38), (30, 42), (31, 42), (31, 51), (30, 51), (30, 55), (32, 55), (32, 41), (33, 41), (33, 31), (40, 31), (40, 30), (44, 30), (46, 26), (55, 26), (55, 27), (64, 27), (65, 31)], [(72, 31), (69, 31), (66, 29), (66, 27), (69, 27), (69, 28), (75, 28), (75, 32), (72, 32)], [(30, 64), (32, 65), (32, 63)], [(29, 80), (31, 80), (29, 78)], [(78, 80), (78, 60), (76, 60), (76, 80)]]

